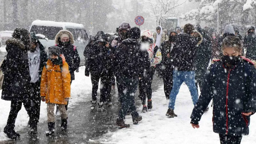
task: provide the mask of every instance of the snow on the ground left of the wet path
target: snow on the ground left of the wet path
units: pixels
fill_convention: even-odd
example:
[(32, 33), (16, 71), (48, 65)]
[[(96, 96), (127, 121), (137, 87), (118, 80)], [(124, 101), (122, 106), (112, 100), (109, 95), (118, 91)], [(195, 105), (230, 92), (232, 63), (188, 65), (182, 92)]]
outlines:
[[(75, 72), (76, 80), (74, 80), (71, 84), (71, 100), (69, 100), (69, 108), (75, 106), (77, 102), (91, 100), (91, 96), (88, 96), (92, 91), (91, 77), (84, 76), (84, 69), (85, 67), (83, 66), (79, 68), (79, 73)], [(2, 90), (0, 91), (0, 93), (2, 93)], [(11, 106), (11, 101), (0, 99), (0, 112), (1, 112), (0, 141), (8, 140), (6, 134), (3, 131), (9, 116), (10, 106)], [(55, 110), (56, 110), (56, 107), (55, 107)], [(22, 106), (16, 119), (15, 128), (14, 128), (15, 131), (19, 132), (21, 129), (27, 126), (28, 120), (29, 118), (28, 118), (27, 111)], [(41, 101), (39, 123), (44, 122), (46, 124), (46, 120), (47, 120), (46, 104), (45, 102)]]

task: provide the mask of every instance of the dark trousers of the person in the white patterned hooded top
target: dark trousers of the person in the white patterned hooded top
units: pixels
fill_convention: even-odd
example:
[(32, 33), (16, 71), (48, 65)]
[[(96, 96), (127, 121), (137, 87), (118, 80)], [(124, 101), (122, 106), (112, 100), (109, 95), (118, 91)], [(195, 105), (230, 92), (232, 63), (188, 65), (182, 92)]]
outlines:
[(139, 98), (142, 102), (142, 105), (146, 104), (146, 97), (148, 100), (150, 100), (152, 97), (151, 85), (155, 70), (156, 69), (154, 67), (150, 67), (146, 76), (141, 77), (139, 80)]

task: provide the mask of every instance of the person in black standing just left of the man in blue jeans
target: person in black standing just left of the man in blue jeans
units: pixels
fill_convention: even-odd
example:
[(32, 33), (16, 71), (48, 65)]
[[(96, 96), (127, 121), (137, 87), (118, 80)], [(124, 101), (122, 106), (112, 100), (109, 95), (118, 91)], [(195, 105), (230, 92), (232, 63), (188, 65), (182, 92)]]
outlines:
[(169, 40), (165, 41), (161, 44), (160, 49), (163, 53), (162, 55), (162, 61), (161, 61), (161, 71), (163, 73), (163, 81), (164, 81), (164, 94), (166, 97), (166, 100), (168, 101), (170, 99), (170, 93), (172, 91), (172, 85), (173, 85), (173, 48), (175, 47), (175, 40), (178, 36), (178, 33), (176, 31), (172, 31), (169, 36)]

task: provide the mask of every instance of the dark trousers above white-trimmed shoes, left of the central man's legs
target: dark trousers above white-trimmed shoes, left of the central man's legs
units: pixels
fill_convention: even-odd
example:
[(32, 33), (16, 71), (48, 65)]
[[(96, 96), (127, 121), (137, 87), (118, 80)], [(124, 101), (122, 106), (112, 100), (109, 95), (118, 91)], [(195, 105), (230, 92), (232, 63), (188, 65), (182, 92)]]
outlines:
[(105, 75), (92, 75), (92, 101), (97, 100), (97, 91), (100, 81), (100, 102), (108, 101), (111, 102), (110, 91), (111, 91), (111, 77)]

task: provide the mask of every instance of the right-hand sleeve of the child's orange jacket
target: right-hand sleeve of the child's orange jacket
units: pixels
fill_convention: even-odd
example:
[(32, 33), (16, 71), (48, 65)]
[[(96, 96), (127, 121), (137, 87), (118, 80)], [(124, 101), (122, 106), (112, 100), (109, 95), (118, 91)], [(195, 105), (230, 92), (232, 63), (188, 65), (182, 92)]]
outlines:
[(64, 63), (62, 66), (62, 80), (63, 80), (63, 90), (64, 98), (70, 98), (70, 80), (71, 76), (68, 70), (68, 63)]

